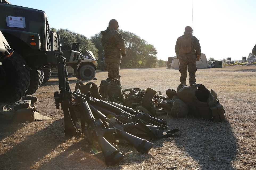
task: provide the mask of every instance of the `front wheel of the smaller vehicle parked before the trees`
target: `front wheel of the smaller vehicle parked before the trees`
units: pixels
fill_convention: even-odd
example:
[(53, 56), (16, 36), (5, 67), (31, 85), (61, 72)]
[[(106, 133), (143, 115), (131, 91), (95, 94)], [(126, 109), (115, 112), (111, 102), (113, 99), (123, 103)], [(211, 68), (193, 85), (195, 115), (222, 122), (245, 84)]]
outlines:
[(95, 77), (96, 71), (91, 65), (80, 65), (78, 74), (82, 80), (92, 80)]

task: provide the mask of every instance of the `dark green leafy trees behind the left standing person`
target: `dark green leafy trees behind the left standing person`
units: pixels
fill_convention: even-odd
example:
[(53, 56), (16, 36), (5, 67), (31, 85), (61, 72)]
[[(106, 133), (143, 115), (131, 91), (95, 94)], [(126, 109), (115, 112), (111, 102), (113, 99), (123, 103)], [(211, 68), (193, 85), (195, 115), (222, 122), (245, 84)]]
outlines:
[[(83, 54), (85, 50), (90, 50), (97, 59), (98, 68), (104, 58), (104, 49), (101, 44), (101, 33), (87, 38), (86, 36), (70, 31), (69, 29), (51, 28), (60, 35), (61, 44), (72, 46), (72, 43), (79, 43), (80, 51)], [(165, 67), (166, 61), (158, 60), (157, 50), (154, 45), (148, 44), (146, 40), (141, 39), (138, 35), (118, 30), (122, 34), (126, 45), (126, 57), (122, 57), (121, 68), (154, 68), (156, 65)]]

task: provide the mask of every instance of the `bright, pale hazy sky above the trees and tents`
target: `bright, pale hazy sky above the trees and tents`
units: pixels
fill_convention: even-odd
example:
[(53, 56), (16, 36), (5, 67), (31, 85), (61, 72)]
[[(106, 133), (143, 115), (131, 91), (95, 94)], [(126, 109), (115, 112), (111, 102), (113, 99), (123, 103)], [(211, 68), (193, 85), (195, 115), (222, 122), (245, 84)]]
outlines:
[(87, 38), (116, 19), (119, 29), (154, 45), (157, 58), (162, 60), (176, 55), (176, 40), (186, 26), (193, 28), (207, 59), (241, 60), (256, 43), (255, 0), (8, 1), (43, 10), (50, 27), (67, 28)]

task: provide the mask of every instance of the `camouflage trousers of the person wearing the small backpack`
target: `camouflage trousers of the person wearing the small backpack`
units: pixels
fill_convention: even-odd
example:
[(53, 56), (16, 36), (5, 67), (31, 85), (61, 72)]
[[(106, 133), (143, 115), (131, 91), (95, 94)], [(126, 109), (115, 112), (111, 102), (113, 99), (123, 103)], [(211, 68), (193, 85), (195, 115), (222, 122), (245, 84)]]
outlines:
[(180, 83), (186, 84), (187, 78), (187, 68), (189, 74), (189, 85), (196, 84), (196, 58), (188, 57), (188, 58), (180, 58)]

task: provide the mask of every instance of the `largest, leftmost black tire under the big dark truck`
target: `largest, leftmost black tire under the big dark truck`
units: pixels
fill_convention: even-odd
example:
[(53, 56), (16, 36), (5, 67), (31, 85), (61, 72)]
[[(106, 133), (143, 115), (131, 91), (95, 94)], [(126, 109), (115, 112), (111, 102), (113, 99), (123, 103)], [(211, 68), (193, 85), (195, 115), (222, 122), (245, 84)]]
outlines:
[(14, 103), (26, 93), (30, 72), (26, 61), (14, 52), (0, 65), (0, 103)]

